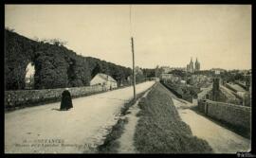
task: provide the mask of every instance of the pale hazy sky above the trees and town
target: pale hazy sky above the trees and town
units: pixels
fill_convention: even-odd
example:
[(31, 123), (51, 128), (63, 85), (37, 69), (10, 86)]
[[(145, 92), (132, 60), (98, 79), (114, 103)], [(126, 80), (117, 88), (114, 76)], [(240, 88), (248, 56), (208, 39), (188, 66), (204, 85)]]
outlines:
[(250, 5), (6, 5), (5, 26), (127, 67), (133, 36), (139, 67), (251, 68)]

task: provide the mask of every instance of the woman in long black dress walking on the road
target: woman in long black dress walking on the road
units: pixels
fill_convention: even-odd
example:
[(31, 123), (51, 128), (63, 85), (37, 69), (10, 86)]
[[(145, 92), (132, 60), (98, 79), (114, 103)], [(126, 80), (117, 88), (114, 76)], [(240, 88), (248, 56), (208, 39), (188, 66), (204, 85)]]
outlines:
[(68, 91), (68, 88), (65, 88), (62, 94), (62, 102), (61, 102), (61, 111), (67, 111), (70, 108), (73, 108), (72, 97)]

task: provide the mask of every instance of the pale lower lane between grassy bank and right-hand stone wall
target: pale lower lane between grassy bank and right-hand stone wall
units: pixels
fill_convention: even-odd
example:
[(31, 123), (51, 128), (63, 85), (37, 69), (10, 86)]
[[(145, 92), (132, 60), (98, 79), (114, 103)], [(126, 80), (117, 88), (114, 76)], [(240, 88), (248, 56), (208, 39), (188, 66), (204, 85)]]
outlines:
[(191, 127), (192, 134), (206, 140), (215, 153), (236, 153), (250, 149), (250, 140), (231, 132), (210, 121), (207, 117), (196, 114), (189, 108), (193, 105), (173, 98), (174, 106), (182, 121)]

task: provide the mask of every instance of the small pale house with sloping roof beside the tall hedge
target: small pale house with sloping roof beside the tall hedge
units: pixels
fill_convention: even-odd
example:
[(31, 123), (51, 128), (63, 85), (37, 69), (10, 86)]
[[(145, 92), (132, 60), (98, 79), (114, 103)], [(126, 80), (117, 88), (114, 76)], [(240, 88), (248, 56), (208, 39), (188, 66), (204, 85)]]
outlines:
[(117, 80), (102, 73), (97, 74), (93, 79), (91, 79), (90, 85), (102, 85), (106, 90), (118, 88)]

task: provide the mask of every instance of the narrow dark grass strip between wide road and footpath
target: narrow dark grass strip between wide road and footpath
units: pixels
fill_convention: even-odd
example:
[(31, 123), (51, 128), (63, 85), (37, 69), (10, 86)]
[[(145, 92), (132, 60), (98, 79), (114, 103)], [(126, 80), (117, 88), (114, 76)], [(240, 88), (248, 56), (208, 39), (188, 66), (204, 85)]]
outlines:
[[(142, 97), (146, 92), (142, 92), (137, 95), (137, 99)], [(137, 100), (130, 100), (129, 102), (125, 103), (124, 106), (120, 110), (120, 116), (124, 116), (128, 114), (129, 108), (135, 104)], [(119, 118), (119, 121), (114, 125), (106, 135), (106, 139), (104, 143), (97, 148), (99, 153), (117, 153), (119, 149), (119, 142), (118, 139), (120, 138), (121, 134), (123, 133), (125, 124), (128, 123), (128, 118)]]

